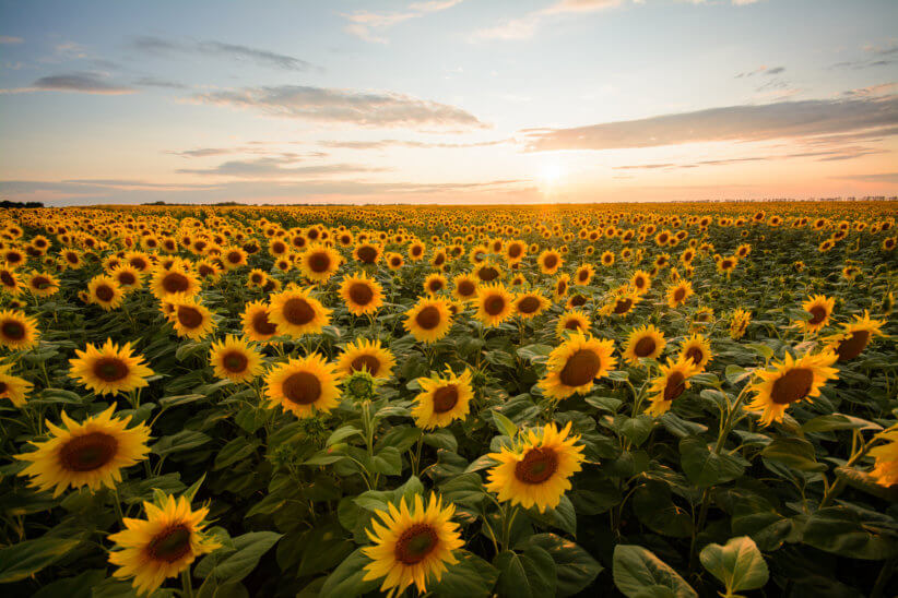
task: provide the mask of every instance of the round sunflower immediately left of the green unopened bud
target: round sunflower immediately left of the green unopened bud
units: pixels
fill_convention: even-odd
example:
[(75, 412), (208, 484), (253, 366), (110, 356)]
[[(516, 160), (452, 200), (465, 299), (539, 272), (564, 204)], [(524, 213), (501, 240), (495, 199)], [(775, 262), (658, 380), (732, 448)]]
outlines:
[(298, 418), (330, 412), (339, 405), (339, 376), (323, 356), (312, 354), (272, 368), (265, 378), (270, 408), (281, 406)]

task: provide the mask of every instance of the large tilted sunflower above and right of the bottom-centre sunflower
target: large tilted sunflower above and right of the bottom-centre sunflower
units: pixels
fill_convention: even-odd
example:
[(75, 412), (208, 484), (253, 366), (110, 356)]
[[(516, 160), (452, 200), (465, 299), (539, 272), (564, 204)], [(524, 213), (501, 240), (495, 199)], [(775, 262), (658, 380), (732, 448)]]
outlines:
[(569, 435), (570, 423), (560, 431), (554, 423), (528, 430), (512, 448), (489, 453), (498, 465), (489, 469), (486, 489), (498, 494), (499, 502), (535, 506), (540, 513), (558, 506), (571, 488), (570, 477), (582, 469), (583, 446), (575, 446), (580, 436)]

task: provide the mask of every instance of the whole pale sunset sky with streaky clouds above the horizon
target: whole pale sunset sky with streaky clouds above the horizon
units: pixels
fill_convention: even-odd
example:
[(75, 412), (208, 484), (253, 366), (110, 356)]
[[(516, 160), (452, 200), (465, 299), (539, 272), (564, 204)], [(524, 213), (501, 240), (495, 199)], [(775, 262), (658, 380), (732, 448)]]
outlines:
[(0, 0), (0, 199), (898, 194), (895, 0)]

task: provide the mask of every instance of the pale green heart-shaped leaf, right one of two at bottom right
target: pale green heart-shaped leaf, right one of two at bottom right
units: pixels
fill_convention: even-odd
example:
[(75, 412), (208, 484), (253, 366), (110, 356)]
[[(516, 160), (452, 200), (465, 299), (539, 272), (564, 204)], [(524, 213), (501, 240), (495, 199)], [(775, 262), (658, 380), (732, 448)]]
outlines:
[(724, 546), (710, 543), (698, 558), (701, 565), (720, 579), (728, 596), (746, 589), (760, 589), (770, 576), (760, 550), (747, 536), (731, 538)]

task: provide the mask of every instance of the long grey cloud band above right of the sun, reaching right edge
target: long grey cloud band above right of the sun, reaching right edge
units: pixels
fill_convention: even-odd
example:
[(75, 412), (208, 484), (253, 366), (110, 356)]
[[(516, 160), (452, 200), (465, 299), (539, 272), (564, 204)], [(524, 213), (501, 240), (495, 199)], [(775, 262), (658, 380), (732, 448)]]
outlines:
[(800, 139), (898, 124), (898, 95), (728, 106), (571, 129), (531, 129), (528, 150), (618, 150)]

